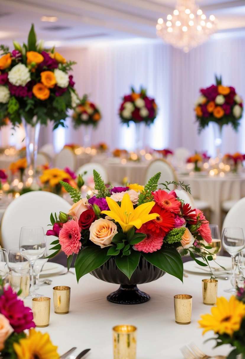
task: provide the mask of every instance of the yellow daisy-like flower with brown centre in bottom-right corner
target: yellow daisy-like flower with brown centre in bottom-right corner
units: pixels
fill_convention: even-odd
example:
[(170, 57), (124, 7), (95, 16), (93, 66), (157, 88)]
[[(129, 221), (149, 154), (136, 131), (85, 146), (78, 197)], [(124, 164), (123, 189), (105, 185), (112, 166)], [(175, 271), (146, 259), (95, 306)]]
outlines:
[(203, 334), (209, 330), (214, 333), (233, 335), (241, 326), (245, 317), (245, 304), (237, 300), (233, 295), (228, 301), (224, 297), (217, 298), (217, 306), (211, 309), (211, 314), (204, 314), (199, 320)]

